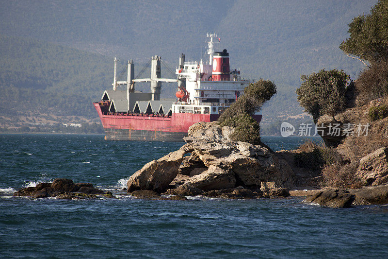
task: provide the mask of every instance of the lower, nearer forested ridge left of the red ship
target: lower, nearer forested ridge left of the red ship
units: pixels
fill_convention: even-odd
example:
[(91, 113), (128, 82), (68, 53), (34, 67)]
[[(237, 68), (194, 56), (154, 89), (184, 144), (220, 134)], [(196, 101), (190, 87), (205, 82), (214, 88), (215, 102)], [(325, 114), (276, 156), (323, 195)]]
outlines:
[(90, 116), (106, 87), (106, 56), (0, 35), (0, 112)]

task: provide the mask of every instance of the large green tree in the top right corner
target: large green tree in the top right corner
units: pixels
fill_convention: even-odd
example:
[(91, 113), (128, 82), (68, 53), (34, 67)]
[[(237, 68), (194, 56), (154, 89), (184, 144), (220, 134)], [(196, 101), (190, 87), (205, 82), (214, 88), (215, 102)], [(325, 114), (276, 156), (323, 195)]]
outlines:
[(353, 18), (349, 24), (350, 37), (341, 42), (339, 49), (358, 60), (375, 63), (388, 59), (388, 0), (380, 0), (369, 15)]

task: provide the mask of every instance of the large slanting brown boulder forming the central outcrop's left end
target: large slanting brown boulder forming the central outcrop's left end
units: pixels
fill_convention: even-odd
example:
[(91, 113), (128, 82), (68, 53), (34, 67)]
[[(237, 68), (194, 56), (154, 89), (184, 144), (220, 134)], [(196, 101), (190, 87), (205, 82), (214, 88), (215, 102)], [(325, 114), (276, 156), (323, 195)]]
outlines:
[(134, 173), (128, 180), (128, 192), (134, 190), (154, 190), (163, 192), (177, 176), (183, 155), (190, 152), (189, 145), (178, 151), (147, 163), (141, 170)]

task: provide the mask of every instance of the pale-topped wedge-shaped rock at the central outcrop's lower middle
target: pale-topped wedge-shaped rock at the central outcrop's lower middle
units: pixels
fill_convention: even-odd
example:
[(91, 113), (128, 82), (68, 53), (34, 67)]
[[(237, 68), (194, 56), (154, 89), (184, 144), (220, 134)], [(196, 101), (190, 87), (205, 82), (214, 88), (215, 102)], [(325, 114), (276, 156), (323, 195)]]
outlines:
[(200, 190), (221, 190), (233, 188), (236, 183), (234, 173), (211, 165), (201, 174), (194, 175), (185, 181), (186, 185), (193, 185)]

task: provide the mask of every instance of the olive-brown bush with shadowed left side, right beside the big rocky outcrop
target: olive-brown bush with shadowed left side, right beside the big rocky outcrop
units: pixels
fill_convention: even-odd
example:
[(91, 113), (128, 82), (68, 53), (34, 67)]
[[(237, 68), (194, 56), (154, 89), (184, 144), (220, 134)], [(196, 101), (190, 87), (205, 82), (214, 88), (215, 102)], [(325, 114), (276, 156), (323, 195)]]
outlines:
[(294, 164), (307, 170), (320, 170), (325, 165), (342, 162), (342, 156), (334, 148), (307, 140), (299, 146), (302, 153), (294, 155)]

